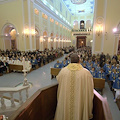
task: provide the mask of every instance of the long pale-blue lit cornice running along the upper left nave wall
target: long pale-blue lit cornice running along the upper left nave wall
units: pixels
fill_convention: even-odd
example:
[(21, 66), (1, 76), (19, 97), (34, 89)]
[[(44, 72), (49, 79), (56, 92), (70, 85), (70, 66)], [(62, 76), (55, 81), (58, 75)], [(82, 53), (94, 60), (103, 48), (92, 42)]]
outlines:
[(72, 27), (70, 25), (68, 25), (64, 20), (62, 20), (58, 15), (55, 14), (55, 12), (53, 12), (52, 10), (50, 10), (50, 8), (47, 7), (46, 5), (44, 5), (43, 2), (41, 2), (40, 0), (35, 0), (34, 4), (35, 4), (35, 7), (37, 7), (37, 9), (41, 10), (46, 15), (50, 16), (54, 20), (56, 20), (59, 23), (63, 24), (64, 26), (66, 26), (70, 30), (72, 29)]

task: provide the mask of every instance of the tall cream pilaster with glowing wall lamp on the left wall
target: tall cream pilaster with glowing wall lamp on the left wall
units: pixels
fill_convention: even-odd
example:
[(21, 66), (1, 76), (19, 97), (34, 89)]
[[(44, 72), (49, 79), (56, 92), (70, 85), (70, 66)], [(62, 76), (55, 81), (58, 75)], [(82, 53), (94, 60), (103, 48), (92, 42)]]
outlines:
[(24, 36), (26, 45), (25, 48), (26, 50), (32, 51), (33, 49), (35, 49), (35, 37), (32, 35), (32, 32), (35, 30), (34, 3), (32, 0), (24, 0), (23, 7), (24, 31), (26, 30), (27, 32), (27, 35)]

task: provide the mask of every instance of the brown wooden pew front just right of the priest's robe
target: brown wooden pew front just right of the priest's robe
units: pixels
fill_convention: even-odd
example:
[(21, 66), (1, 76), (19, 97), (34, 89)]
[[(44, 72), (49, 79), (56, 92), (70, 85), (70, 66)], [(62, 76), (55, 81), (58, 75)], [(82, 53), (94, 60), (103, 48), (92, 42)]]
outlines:
[(94, 88), (101, 90), (103, 94), (103, 88), (105, 87), (105, 79), (93, 78)]

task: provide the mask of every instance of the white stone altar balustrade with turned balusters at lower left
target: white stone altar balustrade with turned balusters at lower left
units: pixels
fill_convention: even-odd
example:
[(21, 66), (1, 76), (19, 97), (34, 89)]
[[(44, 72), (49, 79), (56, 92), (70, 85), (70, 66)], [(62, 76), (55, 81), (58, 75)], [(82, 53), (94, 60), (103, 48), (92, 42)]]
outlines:
[(22, 94), (21, 92), (23, 90), (26, 91), (26, 99), (28, 99), (29, 95), (28, 95), (28, 88), (29, 88), (29, 85), (28, 86), (18, 86), (18, 87), (0, 87), (0, 98), (1, 98), (1, 111), (6, 111), (7, 109), (7, 105), (5, 103), (5, 98), (8, 99), (8, 97), (4, 97), (4, 94), (5, 93), (9, 93), (10, 94), (10, 101), (11, 101), (11, 108), (14, 108), (15, 107), (15, 99), (13, 97), (14, 93), (19, 93), (19, 104), (22, 104), (23, 103), (23, 100), (22, 100)]

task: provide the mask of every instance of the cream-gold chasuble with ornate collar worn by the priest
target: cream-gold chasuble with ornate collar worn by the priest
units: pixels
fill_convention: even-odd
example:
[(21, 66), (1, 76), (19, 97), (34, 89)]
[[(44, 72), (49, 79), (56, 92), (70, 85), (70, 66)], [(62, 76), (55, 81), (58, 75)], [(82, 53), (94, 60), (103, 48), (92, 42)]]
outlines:
[(78, 63), (70, 63), (57, 76), (55, 120), (89, 120), (93, 108), (93, 77)]

